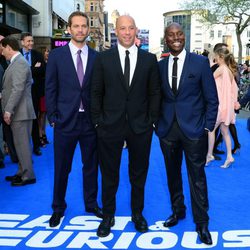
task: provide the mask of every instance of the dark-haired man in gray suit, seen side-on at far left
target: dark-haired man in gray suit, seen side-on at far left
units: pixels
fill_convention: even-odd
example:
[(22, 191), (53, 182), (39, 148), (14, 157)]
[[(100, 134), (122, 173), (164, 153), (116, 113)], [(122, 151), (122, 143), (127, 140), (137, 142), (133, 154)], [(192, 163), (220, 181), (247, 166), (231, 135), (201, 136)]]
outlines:
[(28, 62), (19, 52), (18, 41), (11, 37), (1, 40), (2, 54), (10, 65), (3, 76), (2, 111), (4, 121), (10, 125), (18, 156), (18, 171), (6, 177), (12, 186), (36, 182), (31, 158), (31, 128), (35, 112), (31, 98), (32, 75)]

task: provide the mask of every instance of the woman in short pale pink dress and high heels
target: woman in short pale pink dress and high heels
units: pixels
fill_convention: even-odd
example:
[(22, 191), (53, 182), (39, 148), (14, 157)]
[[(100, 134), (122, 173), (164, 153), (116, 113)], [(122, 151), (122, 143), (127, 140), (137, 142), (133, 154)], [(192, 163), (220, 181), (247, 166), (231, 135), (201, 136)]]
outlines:
[[(228, 127), (230, 123), (235, 123), (236, 118), (234, 108), (238, 98), (238, 86), (235, 82), (235, 76), (237, 74), (237, 64), (235, 62), (233, 54), (231, 54), (227, 48), (220, 48), (216, 50), (215, 59), (219, 64), (219, 67), (214, 72), (214, 78), (219, 98), (219, 108), (215, 129), (220, 126), (220, 130), (227, 149), (227, 158), (221, 167), (228, 168), (234, 162)], [(206, 165), (214, 160), (212, 152), (215, 141), (215, 129), (212, 132), (208, 133), (208, 153)]]

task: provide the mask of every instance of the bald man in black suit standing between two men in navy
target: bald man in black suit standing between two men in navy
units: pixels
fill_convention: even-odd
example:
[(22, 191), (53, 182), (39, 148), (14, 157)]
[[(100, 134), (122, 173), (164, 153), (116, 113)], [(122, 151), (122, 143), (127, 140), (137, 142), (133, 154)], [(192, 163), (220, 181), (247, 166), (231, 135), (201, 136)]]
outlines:
[(114, 225), (116, 192), (123, 142), (129, 153), (132, 221), (146, 232), (142, 215), (153, 124), (158, 119), (160, 79), (156, 56), (135, 45), (134, 19), (116, 22), (118, 45), (97, 56), (91, 83), (91, 116), (97, 129), (102, 173), (103, 221), (97, 235), (106, 237)]

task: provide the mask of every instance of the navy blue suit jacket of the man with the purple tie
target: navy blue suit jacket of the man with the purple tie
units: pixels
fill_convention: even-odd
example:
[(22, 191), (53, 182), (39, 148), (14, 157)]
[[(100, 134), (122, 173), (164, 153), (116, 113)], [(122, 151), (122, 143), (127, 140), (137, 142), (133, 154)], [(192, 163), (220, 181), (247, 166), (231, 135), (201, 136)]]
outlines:
[(90, 78), (96, 51), (88, 48), (82, 87), (68, 45), (52, 50), (46, 68), (45, 96), (48, 120), (57, 129), (74, 129), (82, 101), (90, 122)]

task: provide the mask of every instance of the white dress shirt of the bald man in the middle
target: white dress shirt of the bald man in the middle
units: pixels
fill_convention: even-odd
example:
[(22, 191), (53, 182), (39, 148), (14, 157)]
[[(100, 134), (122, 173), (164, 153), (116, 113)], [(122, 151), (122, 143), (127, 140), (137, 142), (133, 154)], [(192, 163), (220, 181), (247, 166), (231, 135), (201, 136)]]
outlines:
[(125, 51), (126, 50), (129, 51), (129, 61), (130, 61), (129, 84), (131, 84), (131, 81), (133, 79), (133, 75), (135, 72), (136, 63), (137, 63), (138, 48), (135, 45), (132, 45), (129, 49), (126, 49), (118, 43), (118, 51), (119, 51), (123, 73), (124, 73), (124, 68), (125, 68), (125, 56), (126, 56)]

